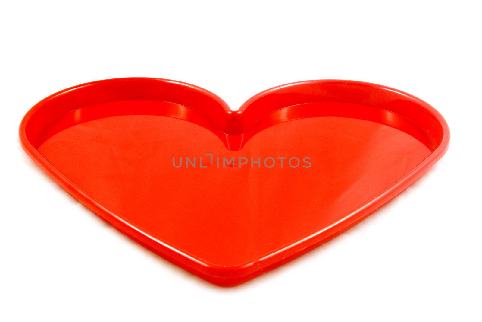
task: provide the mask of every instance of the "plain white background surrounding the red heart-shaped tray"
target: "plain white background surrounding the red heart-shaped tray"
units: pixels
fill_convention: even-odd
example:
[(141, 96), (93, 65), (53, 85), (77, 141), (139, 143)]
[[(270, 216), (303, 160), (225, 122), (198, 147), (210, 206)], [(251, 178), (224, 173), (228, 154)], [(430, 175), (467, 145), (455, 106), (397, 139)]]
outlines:
[[(0, 320), (481, 321), (477, 2), (4, 2)], [(384, 84), (438, 109), (451, 146), (347, 233), (220, 288), (105, 224), (19, 145), (20, 120), (40, 99), (131, 76), (196, 84), (232, 108), (294, 81)]]

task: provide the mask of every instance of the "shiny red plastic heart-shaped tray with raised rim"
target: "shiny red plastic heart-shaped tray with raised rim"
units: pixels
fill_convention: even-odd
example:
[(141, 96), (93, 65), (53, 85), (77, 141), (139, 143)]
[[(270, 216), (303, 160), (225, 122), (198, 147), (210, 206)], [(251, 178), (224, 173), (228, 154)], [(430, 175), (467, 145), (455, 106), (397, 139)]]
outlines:
[(231, 111), (191, 84), (121, 78), (43, 99), (20, 141), (109, 224), (230, 286), (400, 194), (442, 157), (449, 129), (426, 102), (376, 84), (286, 84)]

